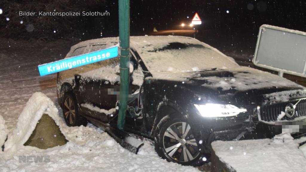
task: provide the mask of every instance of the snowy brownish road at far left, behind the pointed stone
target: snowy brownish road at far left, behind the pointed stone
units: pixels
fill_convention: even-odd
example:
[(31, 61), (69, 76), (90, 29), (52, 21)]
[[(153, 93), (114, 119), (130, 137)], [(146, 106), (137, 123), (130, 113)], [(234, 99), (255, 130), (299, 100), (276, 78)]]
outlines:
[[(11, 130), (25, 103), (34, 92), (43, 92), (56, 101), (56, 74), (40, 77), (37, 65), (63, 58), (69, 46), (17, 47), (0, 50), (0, 114)], [(62, 54), (62, 56), (61, 56)]]

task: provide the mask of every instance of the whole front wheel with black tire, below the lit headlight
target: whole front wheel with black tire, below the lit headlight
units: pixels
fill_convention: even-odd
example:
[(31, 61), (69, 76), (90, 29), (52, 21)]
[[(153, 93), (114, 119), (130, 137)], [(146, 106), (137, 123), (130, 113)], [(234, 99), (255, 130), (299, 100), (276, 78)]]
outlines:
[(182, 165), (198, 164), (201, 153), (191, 125), (185, 119), (170, 118), (169, 115), (162, 118), (157, 125), (154, 140), (155, 151), (162, 159)]

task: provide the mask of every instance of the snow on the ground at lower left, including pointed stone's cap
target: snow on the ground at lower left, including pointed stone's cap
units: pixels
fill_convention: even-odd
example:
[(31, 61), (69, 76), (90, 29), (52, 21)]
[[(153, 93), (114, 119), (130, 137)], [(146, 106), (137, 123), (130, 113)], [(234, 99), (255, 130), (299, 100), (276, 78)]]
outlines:
[[(67, 144), (46, 150), (23, 146), (42, 114), (48, 114), (60, 125), (69, 140)], [(160, 159), (151, 140), (144, 140), (144, 146), (136, 155), (93, 125), (67, 127), (51, 99), (39, 92), (28, 101), (1, 154), (2, 171), (198, 171)], [(50, 162), (21, 163), (19, 155), (48, 155)]]

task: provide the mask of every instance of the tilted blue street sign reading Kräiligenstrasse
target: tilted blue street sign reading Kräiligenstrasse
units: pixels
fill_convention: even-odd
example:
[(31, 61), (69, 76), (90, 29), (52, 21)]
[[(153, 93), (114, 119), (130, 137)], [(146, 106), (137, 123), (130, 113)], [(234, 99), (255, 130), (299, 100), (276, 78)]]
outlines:
[(76, 67), (88, 65), (95, 62), (100, 62), (106, 59), (118, 56), (118, 47), (107, 48), (83, 54), (75, 57), (65, 58), (56, 62), (50, 62), (43, 65), (38, 65), (40, 76), (49, 75), (52, 73), (61, 72), (63, 70), (73, 69)]

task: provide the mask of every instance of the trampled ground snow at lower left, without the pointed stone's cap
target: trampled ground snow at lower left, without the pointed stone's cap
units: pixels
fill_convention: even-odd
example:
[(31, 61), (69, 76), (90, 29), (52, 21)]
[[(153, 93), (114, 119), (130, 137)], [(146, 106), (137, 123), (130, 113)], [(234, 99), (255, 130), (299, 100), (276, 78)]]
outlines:
[[(108, 171), (108, 172), (199, 172), (191, 166), (181, 166), (160, 159), (151, 140), (144, 140), (138, 154), (122, 148), (107, 133), (92, 124), (62, 128), (69, 142), (63, 146), (38, 149), (25, 146), (13, 158), (0, 159), (3, 171)], [(49, 156), (47, 163), (19, 163), (19, 155)]]

